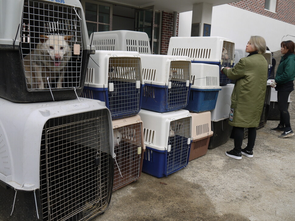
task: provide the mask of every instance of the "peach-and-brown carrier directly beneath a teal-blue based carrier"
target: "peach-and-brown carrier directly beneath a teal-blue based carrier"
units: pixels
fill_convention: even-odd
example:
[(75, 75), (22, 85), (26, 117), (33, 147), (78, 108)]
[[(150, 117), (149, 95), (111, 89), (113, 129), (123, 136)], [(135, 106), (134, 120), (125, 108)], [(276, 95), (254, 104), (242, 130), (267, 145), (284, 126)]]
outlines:
[(189, 161), (201, 157), (207, 153), (211, 131), (210, 111), (202, 113), (190, 113), (192, 115), (192, 137), (189, 151)]

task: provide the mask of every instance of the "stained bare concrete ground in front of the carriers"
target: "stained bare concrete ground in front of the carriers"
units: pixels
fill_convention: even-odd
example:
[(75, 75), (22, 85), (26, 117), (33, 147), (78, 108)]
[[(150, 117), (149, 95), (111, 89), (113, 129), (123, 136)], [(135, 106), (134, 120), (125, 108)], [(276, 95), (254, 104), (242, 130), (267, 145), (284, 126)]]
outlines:
[[(294, 109), (291, 104), (293, 129)], [(277, 124), (267, 121), (257, 130), (254, 158), (227, 157), (225, 151), (233, 148), (230, 138), (168, 177), (142, 173), (137, 182), (113, 192), (109, 208), (93, 220), (295, 220), (295, 136), (278, 138), (269, 130)]]

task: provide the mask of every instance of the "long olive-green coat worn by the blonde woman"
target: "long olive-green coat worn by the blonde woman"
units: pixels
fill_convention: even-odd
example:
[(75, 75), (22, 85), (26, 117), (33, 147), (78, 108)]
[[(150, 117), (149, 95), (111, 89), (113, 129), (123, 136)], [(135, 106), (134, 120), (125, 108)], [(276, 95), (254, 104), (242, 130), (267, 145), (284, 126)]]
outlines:
[[(223, 69), (230, 79), (236, 80), (231, 94), (234, 127), (258, 127), (266, 94), (268, 64), (262, 54), (252, 54), (230, 69)], [(230, 117), (231, 120), (231, 117)]]

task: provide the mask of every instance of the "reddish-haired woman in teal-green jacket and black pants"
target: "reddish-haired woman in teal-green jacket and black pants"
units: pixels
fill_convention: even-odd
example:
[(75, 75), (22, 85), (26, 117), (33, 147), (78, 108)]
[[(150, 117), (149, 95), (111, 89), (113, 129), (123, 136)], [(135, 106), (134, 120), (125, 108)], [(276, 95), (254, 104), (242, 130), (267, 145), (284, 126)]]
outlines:
[(280, 111), (280, 122), (271, 131), (282, 133), (279, 138), (290, 137), (294, 135), (290, 124), (290, 114), (288, 112), (288, 98), (294, 90), (295, 78), (295, 44), (293, 41), (283, 41), (281, 43), (281, 53), (284, 55), (276, 71), (275, 80), (271, 86), (278, 92), (278, 107)]

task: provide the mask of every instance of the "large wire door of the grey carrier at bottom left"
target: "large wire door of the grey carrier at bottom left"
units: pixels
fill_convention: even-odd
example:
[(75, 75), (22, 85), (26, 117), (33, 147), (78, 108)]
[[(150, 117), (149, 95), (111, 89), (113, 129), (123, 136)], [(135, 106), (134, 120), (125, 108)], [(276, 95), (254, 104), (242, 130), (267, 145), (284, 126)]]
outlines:
[(52, 118), (40, 150), (43, 220), (85, 220), (106, 209), (112, 188), (106, 109)]

